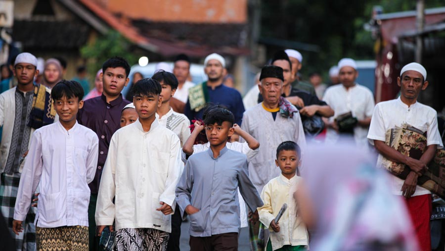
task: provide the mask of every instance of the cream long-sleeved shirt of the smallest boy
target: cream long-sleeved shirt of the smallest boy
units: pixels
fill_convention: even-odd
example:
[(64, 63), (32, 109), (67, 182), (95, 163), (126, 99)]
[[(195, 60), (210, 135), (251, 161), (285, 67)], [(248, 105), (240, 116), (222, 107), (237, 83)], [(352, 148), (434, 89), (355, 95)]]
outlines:
[[(280, 174), (280, 176), (270, 180), (261, 192), (260, 196), (264, 205), (258, 208), (258, 214), (261, 223), (270, 230), (270, 241), (273, 250), (277, 250), (284, 245), (308, 246), (309, 244), (308, 230), (297, 215), (297, 202), (293, 198), (301, 180), (302, 178), (297, 175), (289, 180)], [(280, 231), (275, 233), (270, 227), (270, 222), (275, 219), (284, 203), (287, 203), (288, 207), (278, 221)]]

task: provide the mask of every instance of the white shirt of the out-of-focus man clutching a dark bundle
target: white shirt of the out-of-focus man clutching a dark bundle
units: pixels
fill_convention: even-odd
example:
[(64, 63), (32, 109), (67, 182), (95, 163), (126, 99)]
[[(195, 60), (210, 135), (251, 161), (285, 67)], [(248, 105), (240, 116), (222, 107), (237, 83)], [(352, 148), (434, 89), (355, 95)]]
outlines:
[[(346, 89), (342, 84), (331, 86), (326, 89), (323, 101), (334, 110), (334, 116), (329, 118), (330, 123), (332, 123), (338, 115), (350, 111), (358, 120), (371, 117), (375, 105), (372, 92), (368, 88), (359, 84), (356, 84), (349, 89)], [(367, 127), (357, 125), (354, 128), (354, 139), (357, 146), (363, 148), (367, 147), (367, 134)], [(327, 128), (325, 141), (328, 144), (336, 143), (339, 136), (340, 135), (334, 129)]]

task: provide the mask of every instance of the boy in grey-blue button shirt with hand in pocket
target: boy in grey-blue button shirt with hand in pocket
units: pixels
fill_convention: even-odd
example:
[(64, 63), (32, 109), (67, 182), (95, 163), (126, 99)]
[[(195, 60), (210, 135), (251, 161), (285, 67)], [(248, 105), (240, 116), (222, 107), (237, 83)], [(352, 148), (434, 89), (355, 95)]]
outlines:
[(210, 149), (188, 158), (176, 189), (181, 215), (190, 217), (190, 250), (238, 250), (240, 229), (236, 188), (257, 212), (263, 205), (247, 174), (245, 154), (226, 148), (234, 129), (233, 114), (227, 109), (211, 109), (204, 119)]

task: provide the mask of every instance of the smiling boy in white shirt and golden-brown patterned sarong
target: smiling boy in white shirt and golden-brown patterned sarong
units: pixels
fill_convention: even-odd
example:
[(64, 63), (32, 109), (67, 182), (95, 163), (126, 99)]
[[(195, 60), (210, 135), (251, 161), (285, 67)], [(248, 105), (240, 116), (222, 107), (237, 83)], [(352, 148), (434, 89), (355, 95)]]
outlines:
[(59, 121), (35, 131), (15, 202), (13, 231), (22, 222), (39, 186), (34, 224), (37, 250), (89, 250), (89, 187), (98, 158), (98, 138), (77, 123), (84, 90), (76, 81), (62, 80), (51, 92)]

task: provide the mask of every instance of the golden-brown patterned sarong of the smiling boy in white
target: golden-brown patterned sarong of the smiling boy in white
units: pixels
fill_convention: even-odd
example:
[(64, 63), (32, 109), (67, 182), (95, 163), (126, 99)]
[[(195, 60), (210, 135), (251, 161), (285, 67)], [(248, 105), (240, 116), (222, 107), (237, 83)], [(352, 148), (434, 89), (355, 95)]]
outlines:
[(88, 251), (88, 227), (36, 228), (38, 251)]

